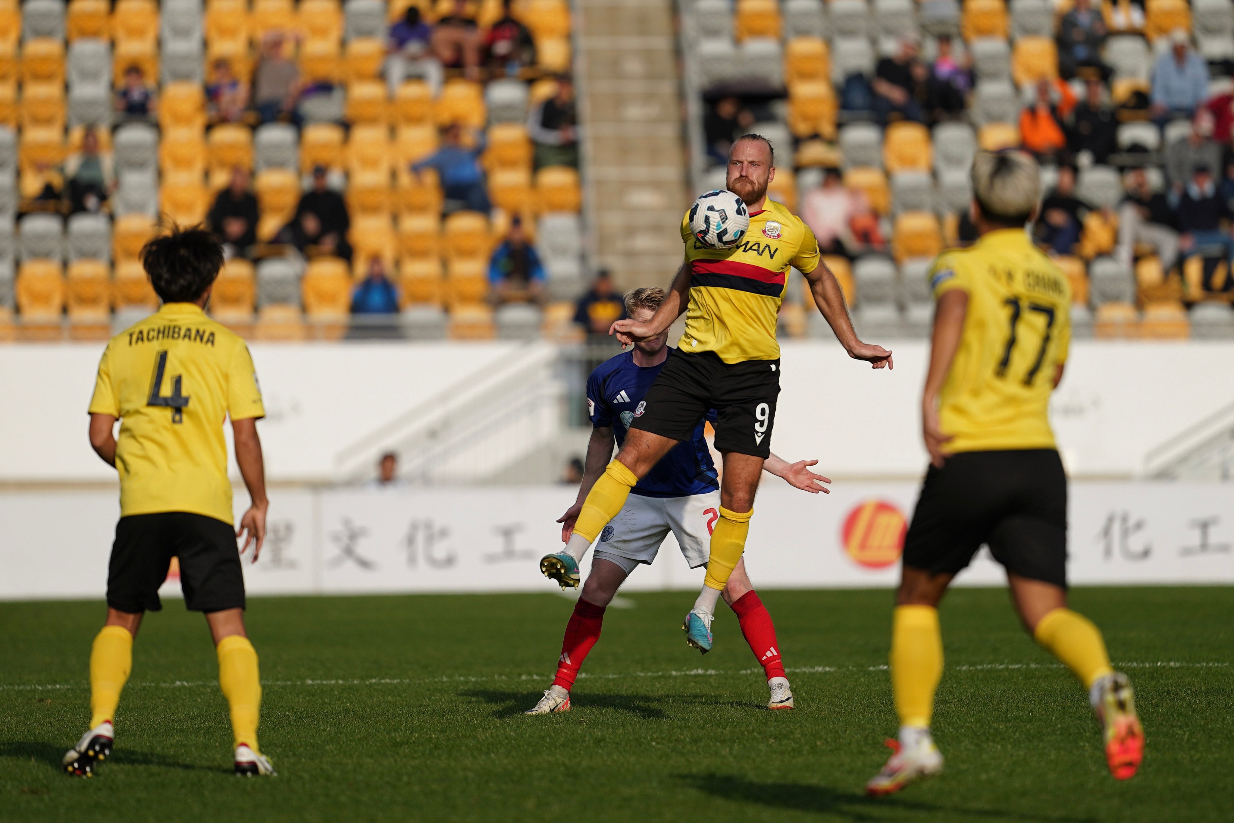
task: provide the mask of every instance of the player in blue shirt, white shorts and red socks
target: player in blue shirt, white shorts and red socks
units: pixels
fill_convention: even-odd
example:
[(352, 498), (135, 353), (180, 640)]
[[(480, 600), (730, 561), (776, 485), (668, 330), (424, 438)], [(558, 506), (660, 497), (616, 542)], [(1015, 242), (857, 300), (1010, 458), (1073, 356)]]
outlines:
[[(636, 320), (650, 320), (663, 301), (663, 289), (636, 289), (626, 295), (626, 311)], [(579, 497), (558, 521), (563, 524), (563, 542), (569, 542), (587, 492), (612, 458), (613, 439), (618, 447), (624, 442), (629, 424), (643, 411), (643, 395), (670, 357), (677, 355), (676, 349), (668, 347), (665, 331), (659, 337), (634, 343), (629, 352), (606, 360), (587, 379), (587, 412), (594, 429), (587, 444), (586, 469)], [(707, 420), (714, 422), (716, 412), (708, 412)], [(621, 512), (600, 534), (591, 574), (587, 575), (574, 614), (565, 627), (557, 676), (528, 714), (570, 711), (570, 689), (582, 660), (600, 639), (605, 608), (629, 573), (639, 564), (650, 564), (655, 559), (660, 543), (669, 532), (677, 538), (691, 569), (707, 565), (711, 529), (719, 519), (719, 480), (703, 438), (703, 428), (705, 423), (700, 422), (692, 438), (677, 443), (638, 481)], [(772, 454), (764, 463), (764, 469), (797, 489), (812, 494), (826, 492), (823, 484), (830, 480), (810, 470), (816, 463), (818, 461), (801, 460), (790, 464)], [(540, 560), (540, 571), (561, 584), (563, 589), (578, 587), (581, 560), (581, 555), (574, 556), (565, 549), (545, 555)], [(792, 708), (792, 691), (780, 659), (775, 624), (745, 575), (744, 559), (733, 569), (723, 597), (737, 613), (742, 634), (766, 672), (768, 687), (771, 690), (768, 708)]]

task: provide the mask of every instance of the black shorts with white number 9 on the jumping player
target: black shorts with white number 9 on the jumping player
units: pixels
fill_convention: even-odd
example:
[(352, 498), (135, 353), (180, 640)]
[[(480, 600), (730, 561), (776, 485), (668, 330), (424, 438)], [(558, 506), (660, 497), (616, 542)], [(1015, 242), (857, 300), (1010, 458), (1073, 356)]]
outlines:
[(712, 352), (677, 350), (647, 390), (631, 428), (689, 440), (714, 408), (718, 452), (766, 459), (779, 396), (780, 360), (724, 363)]

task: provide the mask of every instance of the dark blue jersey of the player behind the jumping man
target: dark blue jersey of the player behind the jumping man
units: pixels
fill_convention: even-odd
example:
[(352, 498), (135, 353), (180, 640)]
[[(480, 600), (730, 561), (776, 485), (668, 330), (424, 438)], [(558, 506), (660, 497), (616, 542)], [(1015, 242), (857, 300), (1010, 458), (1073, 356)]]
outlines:
[[(669, 357), (676, 357), (676, 349), (670, 348)], [(638, 405), (643, 402), (664, 363), (638, 366), (634, 365), (634, 352), (623, 352), (601, 363), (587, 378), (587, 413), (591, 424), (596, 428), (611, 426), (618, 447), (626, 442), (626, 432), (634, 421)], [(706, 420), (714, 423), (716, 410), (708, 411)], [(716, 489), (719, 489), (716, 464), (712, 463), (707, 440), (703, 439), (703, 421), (698, 421), (694, 437), (673, 447), (631, 491), (647, 497), (687, 497)]]

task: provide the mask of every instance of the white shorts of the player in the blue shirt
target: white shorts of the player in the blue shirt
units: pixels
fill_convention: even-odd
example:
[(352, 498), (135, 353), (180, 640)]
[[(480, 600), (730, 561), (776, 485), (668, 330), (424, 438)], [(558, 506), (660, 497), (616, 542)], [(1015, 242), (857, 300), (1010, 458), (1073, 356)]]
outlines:
[(691, 569), (707, 565), (711, 531), (719, 519), (719, 491), (689, 497), (631, 495), (596, 543), (596, 558), (615, 563), (628, 573), (638, 564), (650, 564), (660, 543), (673, 532)]

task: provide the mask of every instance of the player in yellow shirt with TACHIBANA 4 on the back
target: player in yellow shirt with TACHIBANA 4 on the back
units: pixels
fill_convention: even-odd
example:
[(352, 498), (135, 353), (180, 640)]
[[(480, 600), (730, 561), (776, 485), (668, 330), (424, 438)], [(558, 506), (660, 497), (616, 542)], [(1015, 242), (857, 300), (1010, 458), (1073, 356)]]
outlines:
[[(90, 776), (111, 754), (133, 638), (179, 558), (184, 605), (205, 612), (231, 709), (237, 775), (273, 775), (257, 746), (257, 653), (244, 634), (239, 555), (265, 539), (265, 476), (257, 420), (265, 416), (244, 341), (205, 315), (222, 248), (209, 232), (173, 231), (142, 249), (163, 307), (107, 343), (90, 401), (90, 444), (120, 473), (120, 522), (107, 570), (107, 619), (90, 651), (90, 728), (64, 755)], [(223, 421), (252, 506), (232, 528)], [(112, 427), (120, 420), (120, 439)], [(247, 532), (244, 547), (237, 538)]]

